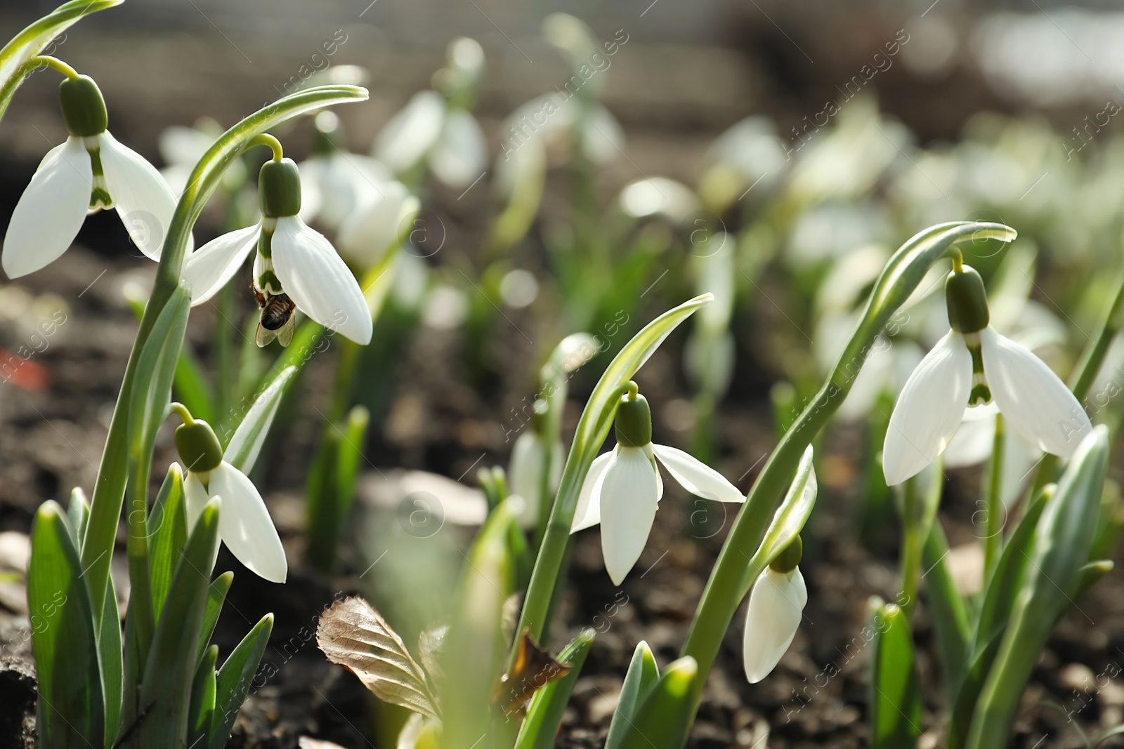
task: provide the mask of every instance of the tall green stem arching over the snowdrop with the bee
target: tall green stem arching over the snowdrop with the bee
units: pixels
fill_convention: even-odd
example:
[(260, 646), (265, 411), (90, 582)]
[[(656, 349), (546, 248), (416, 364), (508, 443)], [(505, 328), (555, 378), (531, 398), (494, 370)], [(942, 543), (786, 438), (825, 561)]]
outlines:
[[(191, 172), (188, 186), (175, 205), (171, 226), (165, 235), (160, 265), (156, 268), (156, 280), (153, 284), (152, 295), (145, 304), (144, 316), (140, 318), (140, 329), (133, 342), (133, 350), (129, 353), (121, 390), (109, 422), (106, 449), (101, 456), (101, 465), (90, 499), (90, 519), (87, 522), (82, 546), (82, 568), (89, 586), (91, 610), (99, 625), (106, 597), (106, 584), (109, 578), (109, 561), (117, 537), (128, 476), (127, 432), (133, 378), (136, 374), (140, 351), (148, 340), (156, 318), (160, 317), (160, 312), (180, 284), (180, 273), (187, 254), (188, 239), (196, 219), (199, 218), (207, 200), (218, 188), (223, 172), (250, 147), (248, 144), (255, 135), (314, 109), (364, 99), (366, 99), (365, 89), (342, 85), (315, 86), (279, 99), (219, 136)], [(152, 456), (147, 455), (143, 456), (139, 462), (146, 464), (145, 475), (147, 475), (151, 460)], [(136, 476), (139, 475), (140, 469), (138, 468)], [(139, 487), (140, 491), (145, 488), (146, 486)], [(140, 541), (147, 544), (144, 538), (137, 544)], [(136, 583), (134, 582), (134, 584)]]

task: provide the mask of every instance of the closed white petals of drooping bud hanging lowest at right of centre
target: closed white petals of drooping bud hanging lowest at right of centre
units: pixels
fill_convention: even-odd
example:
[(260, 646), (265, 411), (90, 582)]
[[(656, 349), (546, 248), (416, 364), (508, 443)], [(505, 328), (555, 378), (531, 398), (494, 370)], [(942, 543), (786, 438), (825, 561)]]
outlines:
[(807, 602), (808, 590), (799, 567), (790, 574), (770, 567), (758, 578), (750, 593), (742, 642), (750, 684), (756, 684), (777, 667), (796, 637)]

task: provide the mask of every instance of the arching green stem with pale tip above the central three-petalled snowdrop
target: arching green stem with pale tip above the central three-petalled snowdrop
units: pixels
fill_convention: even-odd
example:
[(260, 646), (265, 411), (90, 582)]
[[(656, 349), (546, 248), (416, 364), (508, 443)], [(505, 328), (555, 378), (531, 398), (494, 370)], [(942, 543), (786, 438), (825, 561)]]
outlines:
[(700, 307), (710, 303), (713, 299), (714, 296), (710, 294), (696, 296), (652, 320), (624, 345), (609, 366), (606, 367), (605, 373), (601, 374), (601, 378), (593, 387), (593, 392), (586, 402), (586, 409), (578, 420), (570, 455), (562, 469), (558, 499), (551, 509), (546, 533), (535, 561), (531, 585), (527, 588), (527, 599), (519, 618), (518, 631), (524, 628), (529, 629), (535, 640), (543, 636), (551, 597), (554, 594), (554, 585), (569, 545), (570, 526), (573, 522), (574, 510), (578, 508), (581, 483), (584, 481), (586, 474), (589, 473), (589, 466), (597, 457), (601, 444), (609, 435), (622, 389), (632, 380), (636, 371), (644, 366), (644, 363), (671, 335), (672, 330)]

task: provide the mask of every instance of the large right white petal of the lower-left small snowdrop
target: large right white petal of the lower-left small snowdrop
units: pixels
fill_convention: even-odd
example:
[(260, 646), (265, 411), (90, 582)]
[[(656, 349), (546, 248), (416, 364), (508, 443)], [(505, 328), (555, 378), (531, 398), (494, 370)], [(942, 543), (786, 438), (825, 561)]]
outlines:
[(223, 462), (210, 472), (210, 493), (223, 497), (218, 535), (246, 568), (271, 583), (288, 574), (284, 548), (262, 495), (246, 476)]

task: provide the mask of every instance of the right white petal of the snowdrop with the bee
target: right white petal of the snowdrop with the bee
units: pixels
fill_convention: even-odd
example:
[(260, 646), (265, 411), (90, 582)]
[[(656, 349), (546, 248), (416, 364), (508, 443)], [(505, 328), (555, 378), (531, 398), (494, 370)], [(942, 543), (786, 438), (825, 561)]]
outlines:
[(308, 317), (356, 344), (371, 342), (371, 310), (359, 282), (332, 243), (296, 216), (278, 219), (273, 270)]

